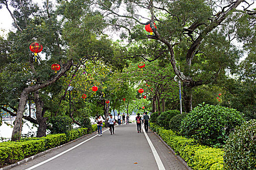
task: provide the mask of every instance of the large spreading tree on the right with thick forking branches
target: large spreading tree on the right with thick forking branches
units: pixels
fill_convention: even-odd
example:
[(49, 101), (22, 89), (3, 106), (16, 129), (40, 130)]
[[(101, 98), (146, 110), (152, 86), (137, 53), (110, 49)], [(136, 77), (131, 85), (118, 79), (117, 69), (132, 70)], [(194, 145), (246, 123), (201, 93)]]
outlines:
[[(153, 39), (162, 45), (158, 50), (166, 53), (183, 82), (186, 112), (192, 109), (193, 88), (215, 83), (241, 57), (234, 44), (236, 34), (227, 29), (235, 20), (230, 16), (240, 13), (253, 20), (251, 16), (256, 15), (251, 7), (253, 0), (97, 0), (95, 3), (113, 28), (127, 30), (131, 39), (144, 37), (144, 41)], [(143, 26), (147, 24), (153, 35), (145, 35)], [(120, 35), (129, 37), (126, 33)], [(134, 40), (130, 42), (133, 44)], [(158, 58), (154, 51), (140, 57), (149, 61)]]

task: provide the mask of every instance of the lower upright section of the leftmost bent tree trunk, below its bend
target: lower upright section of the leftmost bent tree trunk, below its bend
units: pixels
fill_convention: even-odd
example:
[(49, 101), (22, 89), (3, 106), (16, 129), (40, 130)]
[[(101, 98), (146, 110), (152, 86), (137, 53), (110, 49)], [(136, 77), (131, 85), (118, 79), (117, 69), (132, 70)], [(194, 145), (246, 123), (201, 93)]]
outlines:
[(29, 94), (29, 92), (27, 92), (26, 89), (24, 89), (21, 93), (17, 116), (15, 119), (13, 132), (12, 132), (12, 141), (20, 140), (22, 117), (23, 117), (23, 112), (24, 112), (25, 106), (26, 106), (28, 94)]

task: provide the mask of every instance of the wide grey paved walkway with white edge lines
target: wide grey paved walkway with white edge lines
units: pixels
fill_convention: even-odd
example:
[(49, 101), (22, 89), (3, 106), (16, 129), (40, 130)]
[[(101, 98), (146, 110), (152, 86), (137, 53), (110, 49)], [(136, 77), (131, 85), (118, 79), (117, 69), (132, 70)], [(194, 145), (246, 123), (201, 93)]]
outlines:
[[(102, 136), (90, 139), (95, 135), (86, 136), (13, 170), (26, 170), (35, 165), (39, 166), (33, 170), (158, 170), (158, 164), (145, 134), (137, 133), (136, 124), (116, 126), (115, 135), (111, 136), (106, 130)], [(150, 130), (147, 135), (164, 166), (161, 170), (186, 170), (158, 136)], [(84, 142), (87, 139), (90, 140)], [(84, 143), (63, 153), (81, 142)], [(56, 157), (59, 154), (61, 155)], [(52, 160), (46, 162), (51, 158)], [(42, 164), (43, 161), (45, 163)]]

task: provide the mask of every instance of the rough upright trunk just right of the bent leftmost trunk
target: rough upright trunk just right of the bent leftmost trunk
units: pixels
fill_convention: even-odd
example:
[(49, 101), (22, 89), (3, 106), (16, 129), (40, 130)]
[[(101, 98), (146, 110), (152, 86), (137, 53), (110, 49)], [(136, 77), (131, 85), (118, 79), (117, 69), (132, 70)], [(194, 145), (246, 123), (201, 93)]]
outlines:
[(42, 114), (43, 102), (39, 98), (39, 91), (38, 90), (35, 91), (34, 100), (35, 100), (35, 103), (36, 103), (36, 117), (37, 117), (37, 121), (38, 121), (38, 124), (39, 124), (37, 137), (46, 136), (47, 124), (46, 124), (46, 119), (43, 117), (43, 114)]

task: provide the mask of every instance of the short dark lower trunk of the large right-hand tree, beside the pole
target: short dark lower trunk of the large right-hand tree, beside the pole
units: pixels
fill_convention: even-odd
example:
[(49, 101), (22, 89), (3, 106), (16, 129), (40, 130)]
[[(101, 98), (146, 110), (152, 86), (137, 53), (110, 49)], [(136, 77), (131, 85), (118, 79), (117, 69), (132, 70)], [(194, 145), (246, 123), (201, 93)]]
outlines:
[(185, 112), (188, 113), (192, 110), (192, 89), (193, 87), (189, 83), (183, 82), (183, 102), (185, 105)]

